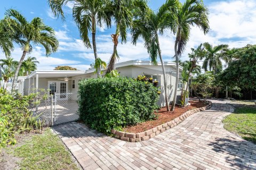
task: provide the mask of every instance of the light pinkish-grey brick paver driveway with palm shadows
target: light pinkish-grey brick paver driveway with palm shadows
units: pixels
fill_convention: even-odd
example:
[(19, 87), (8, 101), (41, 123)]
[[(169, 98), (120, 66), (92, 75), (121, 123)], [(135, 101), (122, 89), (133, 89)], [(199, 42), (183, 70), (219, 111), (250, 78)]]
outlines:
[(234, 110), (225, 103), (214, 100), (210, 110), (138, 143), (75, 122), (54, 130), (84, 169), (256, 169), (256, 145), (222, 128), (222, 118)]

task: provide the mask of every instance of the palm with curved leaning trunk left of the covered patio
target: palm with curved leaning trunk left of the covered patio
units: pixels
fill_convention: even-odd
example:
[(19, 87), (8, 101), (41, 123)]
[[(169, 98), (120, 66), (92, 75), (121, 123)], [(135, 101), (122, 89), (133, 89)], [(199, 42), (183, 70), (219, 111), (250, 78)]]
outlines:
[(31, 22), (28, 22), (24, 16), (18, 11), (10, 9), (6, 11), (6, 28), (9, 30), (11, 35), (19, 35), (20, 43), (23, 53), (20, 58), (19, 64), (15, 70), (12, 89), (17, 81), (18, 73), (21, 64), (27, 53), (30, 53), (33, 49), (32, 44), (40, 44), (45, 48), (46, 56), (56, 52), (59, 47), (58, 39), (55, 37), (54, 30), (45, 25), (41, 18), (34, 18)]

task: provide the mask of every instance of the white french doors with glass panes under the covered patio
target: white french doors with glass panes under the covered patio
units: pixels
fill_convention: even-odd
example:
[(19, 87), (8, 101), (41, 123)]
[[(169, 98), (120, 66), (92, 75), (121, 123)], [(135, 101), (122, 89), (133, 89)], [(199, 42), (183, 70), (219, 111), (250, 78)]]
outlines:
[(49, 95), (53, 95), (58, 100), (67, 100), (68, 82), (66, 81), (48, 81)]

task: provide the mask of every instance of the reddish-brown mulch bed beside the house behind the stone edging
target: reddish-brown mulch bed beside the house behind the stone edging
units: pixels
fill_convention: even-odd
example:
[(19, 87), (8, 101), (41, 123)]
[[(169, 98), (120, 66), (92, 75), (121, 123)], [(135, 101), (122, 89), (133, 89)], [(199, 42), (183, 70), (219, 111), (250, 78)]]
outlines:
[(127, 126), (126, 128), (123, 129), (123, 131), (130, 132), (130, 133), (144, 132), (149, 129), (155, 128), (158, 125), (170, 122), (171, 120), (174, 120), (174, 118), (179, 117), (180, 115), (182, 115), (183, 113), (191, 109), (204, 107), (207, 105), (204, 101), (201, 101), (201, 102), (189, 101), (189, 103), (191, 105), (187, 107), (175, 106), (174, 112), (173, 111), (167, 112), (166, 107), (162, 107), (158, 110), (158, 112), (155, 112), (155, 114), (157, 115), (156, 120), (142, 122), (133, 126)]

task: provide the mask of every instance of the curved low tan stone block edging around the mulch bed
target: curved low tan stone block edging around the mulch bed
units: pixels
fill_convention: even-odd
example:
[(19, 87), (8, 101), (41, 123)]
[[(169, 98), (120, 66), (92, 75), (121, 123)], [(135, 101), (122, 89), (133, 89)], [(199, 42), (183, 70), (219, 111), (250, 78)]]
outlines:
[(208, 101), (209, 104), (207, 104), (204, 107), (195, 108), (193, 110), (187, 111), (180, 115), (179, 117), (174, 118), (174, 120), (164, 123), (162, 125), (159, 125), (155, 128), (149, 129), (145, 132), (140, 133), (128, 133), (128, 132), (121, 132), (112, 129), (111, 133), (114, 134), (114, 137), (123, 141), (127, 142), (140, 142), (142, 140), (148, 140), (150, 138), (154, 138), (157, 134), (162, 133), (166, 130), (169, 130), (173, 128), (174, 126), (177, 126), (179, 123), (183, 122), (188, 116), (193, 115), (194, 113), (205, 111), (212, 106), (212, 102)]

